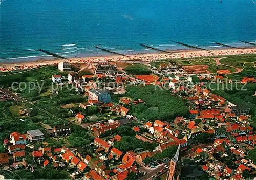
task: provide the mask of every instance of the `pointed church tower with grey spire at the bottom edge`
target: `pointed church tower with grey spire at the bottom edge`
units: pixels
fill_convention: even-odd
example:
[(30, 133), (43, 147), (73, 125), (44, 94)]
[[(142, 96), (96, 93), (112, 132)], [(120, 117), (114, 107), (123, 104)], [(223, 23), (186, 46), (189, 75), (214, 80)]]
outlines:
[(169, 172), (166, 180), (181, 179), (182, 160), (180, 157), (180, 145), (176, 151), (174, 158), (170, 160)]

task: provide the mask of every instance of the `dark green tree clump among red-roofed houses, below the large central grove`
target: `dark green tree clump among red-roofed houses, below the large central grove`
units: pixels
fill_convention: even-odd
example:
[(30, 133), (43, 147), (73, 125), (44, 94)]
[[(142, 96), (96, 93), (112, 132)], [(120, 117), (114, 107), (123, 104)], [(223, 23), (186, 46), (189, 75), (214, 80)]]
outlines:
[(123, 152), (135, 150), (137, 148), (152, 151), (156, 148), (156, 146), (156, 143), (143, 142), (141, 140), (138, 140), (137, 138), (130, 136), (123, 136), (121, 141), (117, 141), (114, 143), (114, 147)]

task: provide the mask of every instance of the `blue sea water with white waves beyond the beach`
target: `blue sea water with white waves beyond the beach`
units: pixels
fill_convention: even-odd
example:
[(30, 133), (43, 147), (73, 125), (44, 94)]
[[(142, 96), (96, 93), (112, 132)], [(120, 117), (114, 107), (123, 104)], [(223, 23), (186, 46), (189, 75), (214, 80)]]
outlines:
[(46, 54), (34, 51), (39, 48), (67, 57), (104, 54), (94, 45), (125, 54), (152, 52), (137, 43), (184, 49), (170, 40), (208, 49), (219, 48), (215, 41), (249, 46), (239, 40), (256, 40), (254, 2), (2, 0), (0, 61), (44, 57)]

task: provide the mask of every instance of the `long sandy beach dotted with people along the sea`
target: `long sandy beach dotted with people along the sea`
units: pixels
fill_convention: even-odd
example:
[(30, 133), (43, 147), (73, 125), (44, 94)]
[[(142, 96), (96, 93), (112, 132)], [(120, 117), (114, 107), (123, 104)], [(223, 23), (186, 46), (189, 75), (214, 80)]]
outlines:
[(193, 58), (193, 57), (209, 57), (209, 56), (223, 56), (223, 55), (242, 55), (242, 54), (256, 54), (256, 48), (244, 48), (244, 49), (216, 49), (210, 51), (204, 50), (176, 50), (171, 53), (151, 53), (151, 54), (137, 54), (129, 55), (129, 57), (110, 55), (110, 56), (97, 56), (97, 57), (81, 57), (81, 58), (70, 58), (69, 60), (63, 59), (38, 59), (35, 61), (22, 61), (22, 62), (11, 62), (1, 63), (0, 72), (17, 71), (37, 68), (44, 65), (56, 65), (62, 61), (68, 61), (71, 64), (78, 63), (97, 63), (100, 61), (128, 61), (132, 59), (152, 62), (160, 59), (176, 59), (176, 58)]

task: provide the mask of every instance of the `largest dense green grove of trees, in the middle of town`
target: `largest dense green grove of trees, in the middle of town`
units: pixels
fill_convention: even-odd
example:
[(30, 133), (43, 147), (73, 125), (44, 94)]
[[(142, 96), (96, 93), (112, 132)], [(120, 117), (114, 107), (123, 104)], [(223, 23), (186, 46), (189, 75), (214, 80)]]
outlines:
[[(143, 99), (146, 104), (132, 105), (130, 110), (136, 117), (145, 121), (171, 120), (177, 116), (187, 117), (189, 114), (185, 101), (172, 96), (169, 91), (155, 86), (127, 87), (126, 96)], [(149, 107), (158, 107), (152, 110)]]

